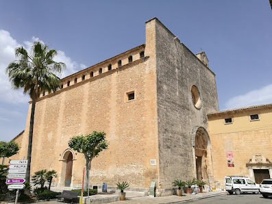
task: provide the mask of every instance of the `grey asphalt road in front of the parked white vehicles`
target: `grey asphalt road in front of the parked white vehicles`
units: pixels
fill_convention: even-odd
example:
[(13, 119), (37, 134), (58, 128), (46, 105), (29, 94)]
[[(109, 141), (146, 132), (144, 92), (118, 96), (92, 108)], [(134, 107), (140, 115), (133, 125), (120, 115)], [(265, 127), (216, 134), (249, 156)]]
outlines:
[(239, 204), (250, 204), (250, 203), (272, 203), (272, 196), (269, 196), (268, 199), (264, 199), (262, 194), (227, 194), (227, 196), (216, 196), (208, 199), (201, 199), (195, 201), (183, 201), (180, 204), (184, 203), (195, 203), (195, 204), (232, 204), (232, 203), (239, 203)]

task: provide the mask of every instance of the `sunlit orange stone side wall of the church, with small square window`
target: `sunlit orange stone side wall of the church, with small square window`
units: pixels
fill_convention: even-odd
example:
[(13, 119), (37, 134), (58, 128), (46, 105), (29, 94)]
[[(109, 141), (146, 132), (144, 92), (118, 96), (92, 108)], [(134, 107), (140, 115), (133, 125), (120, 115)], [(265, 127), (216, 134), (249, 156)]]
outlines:
[[(143, 50), (136, 52), (139, 55)], [(123, 58), (133, 52), (136, 55), (132, 51)], [(115, 186), (118, 181), (127, 181), (131, 188), (148, 188), (151, 181), (157, 181), (157, 166), (150, 163), (150, 160), (158, 160), (154, 143), (158, 136), (156, 92), (153, 91), (156, 75), (155, 68), (147, 64), (149, 57), (134, 58), (130, 63), (123, 60), (121, 67), (94, 77), (86, 75), (86, 79), (77, 84), (73, 84), (74, 76), (70, 76), (63, 79), (71, 81), (69, 87), (41, 97), (36, 103), (34, 118), (31, 175), (38, 170), (53, 169), (58, 173), (54, 185), (64, 186), (66, 161), (63, 154), (69, 148), (69, 139), (104, 131), (110, 145), (92, 162), (91, 185), (101, 186), (107, 182), (108, 186)], [(127, 101), (126, 93), (131, 91), (135, 99)], [(25, 131), (20, 143), (27, 144), (27, 137)], [(80, 153), (73, 154), (72, 186), (79, 187), (85, 159)], [(16, 157), (21, 155), (26, 156), (25, 149)]]

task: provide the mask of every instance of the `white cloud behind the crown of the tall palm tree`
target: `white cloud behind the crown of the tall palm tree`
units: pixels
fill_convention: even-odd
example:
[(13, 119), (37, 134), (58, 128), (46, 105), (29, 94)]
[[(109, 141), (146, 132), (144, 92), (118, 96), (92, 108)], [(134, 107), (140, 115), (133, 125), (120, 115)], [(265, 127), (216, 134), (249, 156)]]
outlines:
[[(24, 41), (24, 47), (27, 51), (30, 50), (32, 43), (39, 38), (32, 37), (30, 41)], [(42, 40), (40, 40), (42, 42)], [(0, 29), (0, 101), (5, 103), (26, 103), (29, 101), (29, 97), (23, 94), (22, 90), (13, 90), (10, 85), (8, 76), (5, 74), (5, 68), (8, 64), (15, 59), (14, 49), (16, 47), (22, 46), (12, 36), (8, 31)], [(49, 47), (49, 49), (53, 47)], [(84, 64), (77, 64), (77, 62), (71, 60), (67, 57), (64, 51), (58, 51), (58, 56), (54, 59), (56, 62), (64, 62), (66, 64), (66, 71), (62, 74), (62, 77), (71, 75), (86, 66)]]

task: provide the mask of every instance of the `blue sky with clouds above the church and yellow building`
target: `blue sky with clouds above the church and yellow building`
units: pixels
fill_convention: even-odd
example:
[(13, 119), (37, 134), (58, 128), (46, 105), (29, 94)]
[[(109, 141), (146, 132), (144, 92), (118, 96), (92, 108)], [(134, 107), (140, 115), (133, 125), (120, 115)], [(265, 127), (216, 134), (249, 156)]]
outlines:
[(156, 16), (217, 75), (220, 110), (272, 103), (269, 0), (0, 1), (0, 140), (23, 129), (29, 97), (5, 75), (14, 48), (36, 39), (59, 53), (63, 76), (145, 43)]

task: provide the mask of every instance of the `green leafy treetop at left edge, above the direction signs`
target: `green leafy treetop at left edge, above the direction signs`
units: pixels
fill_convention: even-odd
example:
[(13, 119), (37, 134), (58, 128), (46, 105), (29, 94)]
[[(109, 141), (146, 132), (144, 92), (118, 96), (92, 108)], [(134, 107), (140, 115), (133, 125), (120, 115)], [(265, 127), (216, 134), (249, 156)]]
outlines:
[(3, 158), (2, 165), (4, 162), (4, 157), (11, 157), (19, 151), (19, 146), (16, 142), (3, 142), (0, 141), (0, 157)]

